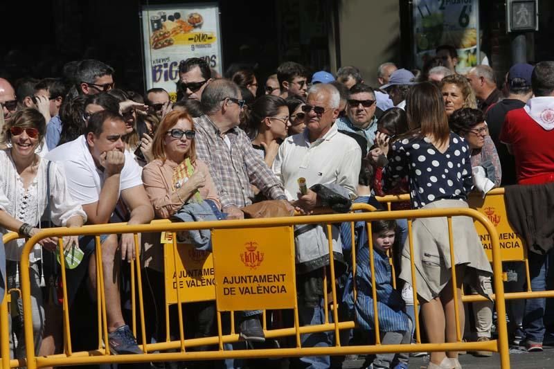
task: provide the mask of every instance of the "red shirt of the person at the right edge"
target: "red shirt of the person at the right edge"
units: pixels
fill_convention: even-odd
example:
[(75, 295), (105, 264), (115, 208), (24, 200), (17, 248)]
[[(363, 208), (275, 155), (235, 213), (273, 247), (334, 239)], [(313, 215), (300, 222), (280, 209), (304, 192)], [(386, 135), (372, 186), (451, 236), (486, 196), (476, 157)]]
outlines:
[[(517, 181), (554, 174), (554, 129), (547, 131), (524, 108), (508, 111), (500, 141), (512, 147)], [(533, 181), (546, 183), (548, 180)]]

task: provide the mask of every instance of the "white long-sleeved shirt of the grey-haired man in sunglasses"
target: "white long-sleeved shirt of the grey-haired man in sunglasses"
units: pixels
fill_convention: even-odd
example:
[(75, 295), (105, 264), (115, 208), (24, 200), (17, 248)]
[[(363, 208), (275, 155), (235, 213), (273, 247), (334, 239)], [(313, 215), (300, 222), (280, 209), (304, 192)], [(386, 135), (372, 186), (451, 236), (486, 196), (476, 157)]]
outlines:
[(354, 138), (341, 134), (337, 125), (310, 143), (308, 131), (288, 137), (279, 147), (272, 169), (285, 186), (287, 199), (296, 200), (298, 178), (310, 188), (316, 183), (334, 183), (356, 195), (361, 149)]

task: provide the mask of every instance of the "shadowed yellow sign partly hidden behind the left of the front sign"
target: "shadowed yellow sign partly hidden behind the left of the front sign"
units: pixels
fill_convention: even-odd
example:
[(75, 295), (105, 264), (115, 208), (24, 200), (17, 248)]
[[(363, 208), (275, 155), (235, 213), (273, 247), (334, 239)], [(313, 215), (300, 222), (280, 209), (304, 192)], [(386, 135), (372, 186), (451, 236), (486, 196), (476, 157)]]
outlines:
[(177, 304), (177, 287), (181, 291), (183, 303), (215, 300), (212, 253), (197, 250), (191, 244), (177, 244), (177, 270), (175, 270), (173, 244), (164, 244), (163, 250), (168, 304)]

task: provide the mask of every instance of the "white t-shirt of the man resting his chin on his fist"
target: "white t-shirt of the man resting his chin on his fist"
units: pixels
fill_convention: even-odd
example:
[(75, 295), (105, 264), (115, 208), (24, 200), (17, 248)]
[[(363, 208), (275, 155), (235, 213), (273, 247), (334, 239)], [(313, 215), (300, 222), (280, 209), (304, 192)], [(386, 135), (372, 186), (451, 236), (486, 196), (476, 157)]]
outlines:
[[(105, 173), (96, 167), (84, 135), (48, 152), (46, 159), (64, 165), (67, 186), (73, 199), (81, 205), (98, 201), (104, 186)], [(125, 150), (125, 165), (121, 170), (118, 197), (122, 190), (141, 185), (141, 176), (142, 168), (134, 161), (132, 152)]]

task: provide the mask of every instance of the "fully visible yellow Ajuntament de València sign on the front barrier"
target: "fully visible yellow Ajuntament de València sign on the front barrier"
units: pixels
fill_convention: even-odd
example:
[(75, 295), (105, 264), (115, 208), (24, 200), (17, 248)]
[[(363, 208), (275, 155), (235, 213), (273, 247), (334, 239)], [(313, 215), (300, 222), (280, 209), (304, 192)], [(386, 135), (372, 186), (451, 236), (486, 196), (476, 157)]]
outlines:
[(294, 237), (290, 226), (212, 231), (217, 309), (292, 309)]

